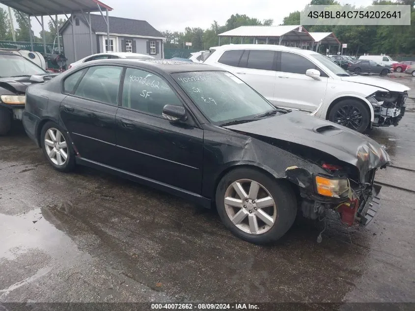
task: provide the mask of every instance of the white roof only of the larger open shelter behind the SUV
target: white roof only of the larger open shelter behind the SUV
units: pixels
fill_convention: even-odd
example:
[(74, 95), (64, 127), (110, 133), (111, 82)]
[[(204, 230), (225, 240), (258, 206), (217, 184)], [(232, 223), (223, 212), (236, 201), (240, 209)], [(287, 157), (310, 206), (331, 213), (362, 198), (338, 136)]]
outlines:
[(313, 41), (308, 31), (301, 25), (283, 26), (241, 26), (218, 34), (228, 37), (283, 37), (284, 41)]

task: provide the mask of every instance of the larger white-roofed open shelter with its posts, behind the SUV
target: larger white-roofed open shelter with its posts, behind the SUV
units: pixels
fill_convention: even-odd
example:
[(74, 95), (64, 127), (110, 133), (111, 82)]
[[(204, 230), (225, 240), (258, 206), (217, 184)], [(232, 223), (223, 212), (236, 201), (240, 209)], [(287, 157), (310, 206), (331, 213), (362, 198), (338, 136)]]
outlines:
[[(308, 31), (301, 25), (283, 25), (283, 26), (241, 26), (229, 31), (218, 34), (221, 37), (251, 37), (253, 43), (257, 43), (258, 40), (265, 41), (266, 44), (288, 44), (292, 42), (300, 43), (300, 47), (303, 42), (313, 43), (314, 39), (310, 36)], [(219, 44), (221, 43), (219, 39)], [(312, 44), (311, 44), (312, 46)]]

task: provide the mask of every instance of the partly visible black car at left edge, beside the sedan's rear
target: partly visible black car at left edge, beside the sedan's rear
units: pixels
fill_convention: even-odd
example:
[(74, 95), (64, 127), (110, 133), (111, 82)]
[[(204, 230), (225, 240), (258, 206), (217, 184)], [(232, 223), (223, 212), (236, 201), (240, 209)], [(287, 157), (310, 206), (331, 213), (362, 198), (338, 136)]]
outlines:
[(0, 52), (0, 135), (9, 132), (13, 119), (22, 119), (28, 85), (53, 76), (21, 55)]

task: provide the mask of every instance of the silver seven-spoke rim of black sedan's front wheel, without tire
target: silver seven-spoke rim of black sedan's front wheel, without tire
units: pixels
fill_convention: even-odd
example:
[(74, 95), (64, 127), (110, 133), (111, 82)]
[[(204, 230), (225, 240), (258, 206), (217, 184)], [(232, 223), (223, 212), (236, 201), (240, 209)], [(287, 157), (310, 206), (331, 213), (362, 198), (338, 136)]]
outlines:
[(277, 220), (274, 198), (254, 180), (240, 179), (231, 183), (225, 192), (224, 205), (232, 223), (249, 234), (263, 234)]

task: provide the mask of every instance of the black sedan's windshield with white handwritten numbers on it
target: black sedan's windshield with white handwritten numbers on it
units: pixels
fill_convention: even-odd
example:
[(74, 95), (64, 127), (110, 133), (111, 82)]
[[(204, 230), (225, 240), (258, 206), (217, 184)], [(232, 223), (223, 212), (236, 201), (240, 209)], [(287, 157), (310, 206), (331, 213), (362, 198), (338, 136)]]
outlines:
[(229, 72), (181, 72), (172, 76), (200, 111), (216, 125), (249, 121), (275, 110), (270, 102)]

